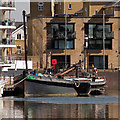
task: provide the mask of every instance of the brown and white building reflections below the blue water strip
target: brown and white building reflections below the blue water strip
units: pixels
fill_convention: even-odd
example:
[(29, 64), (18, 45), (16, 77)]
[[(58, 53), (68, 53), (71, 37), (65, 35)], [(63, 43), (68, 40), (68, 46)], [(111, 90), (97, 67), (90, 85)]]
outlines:
[(0, 118), (118, 118), (118, 103), (50, 104), (0, 100)]

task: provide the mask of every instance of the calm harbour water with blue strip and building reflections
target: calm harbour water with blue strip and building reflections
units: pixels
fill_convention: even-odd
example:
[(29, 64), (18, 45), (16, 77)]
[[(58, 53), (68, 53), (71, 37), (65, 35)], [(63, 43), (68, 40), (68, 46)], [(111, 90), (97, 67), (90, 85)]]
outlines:
[(0, 118), (118, 118), (118, 91), (89, 97), (0, 98)]

